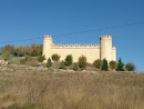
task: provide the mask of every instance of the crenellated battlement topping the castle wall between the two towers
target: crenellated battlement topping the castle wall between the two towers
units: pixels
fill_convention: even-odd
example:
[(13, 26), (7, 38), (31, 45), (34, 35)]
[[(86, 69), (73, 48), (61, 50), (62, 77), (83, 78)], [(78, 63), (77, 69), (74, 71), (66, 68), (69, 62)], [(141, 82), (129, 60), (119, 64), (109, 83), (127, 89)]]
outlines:
[(99, 49), (100, 48), (100, 44), (95, 44), (95, 43), (84, 43), (84, 44), (78, 44), (78, 43), (74, 43), (74, 44), (52, 44), (52, 49), (59, 49), (59, 48), (95, 48), (95, 49)]

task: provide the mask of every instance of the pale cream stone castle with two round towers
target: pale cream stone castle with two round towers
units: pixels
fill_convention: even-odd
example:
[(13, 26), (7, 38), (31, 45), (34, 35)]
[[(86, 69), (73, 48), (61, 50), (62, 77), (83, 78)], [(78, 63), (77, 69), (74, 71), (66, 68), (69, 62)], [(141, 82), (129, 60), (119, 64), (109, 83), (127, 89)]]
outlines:
[(111, 36), (101, 36), (100, 44), (54, 44), (51, 36), (44, 36), (42, 54), (48, 60), (54, 53), (61, 56), (60, 60), (64, 60), (68, 54), (72, 54), (73, 62), (78, 62), (82, 54), (86, 57), (89, 63), (93, 63), (96, 59), (106, 59), (107, 62), (116, 61), (116, 48), (112, 47)]

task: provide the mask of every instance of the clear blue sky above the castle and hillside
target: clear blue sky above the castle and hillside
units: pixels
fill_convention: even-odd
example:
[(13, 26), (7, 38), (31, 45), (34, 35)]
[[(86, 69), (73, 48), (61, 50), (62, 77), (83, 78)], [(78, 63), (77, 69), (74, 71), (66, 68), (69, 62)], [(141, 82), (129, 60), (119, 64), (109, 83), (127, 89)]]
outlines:
[(144, 0), (0, 0), (0, 47), (43, 43), (44, 34), (54, 43), (100, 43), (100, 36), (110, 34), (116, 60), (144, 71), (144, 23), (110, 28), (144, 22), (143, 6)]

